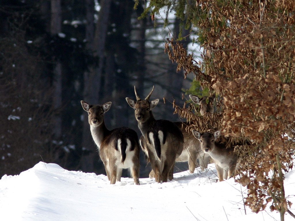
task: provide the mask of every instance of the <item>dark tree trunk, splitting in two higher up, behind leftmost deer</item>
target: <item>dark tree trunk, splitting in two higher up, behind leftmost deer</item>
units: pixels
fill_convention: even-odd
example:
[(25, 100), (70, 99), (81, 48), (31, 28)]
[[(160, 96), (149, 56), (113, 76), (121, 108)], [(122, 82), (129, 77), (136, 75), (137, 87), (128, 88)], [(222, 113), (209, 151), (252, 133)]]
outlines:
[[(104, 49), (106, 42), (106, 33), (108, 27), (110, 6), (112, 1), (102, 0), (100, 1), (101, 9), (99, 11), (99, 19), (95, 27), (95, 35), (92, 38), (93, 34), (92, 19), (94, 17), (94, 11), (92, 8), (94, 5), (90, 0), (86, 0), (86, 13), (87, 13), (87, 27), (86, 28), (86, 37), (88, 40), (89, 49), (92, 49), (92, 54), (95, 58), (98, 59), (96, 62), (89, 67), (89, 72), (84, 73), (84, 100), (90, 104), (98, 104), (100, 99), (100, 90), (101, 90), (101, 76), (104, 65)], [(90, 134), (90, 128), (88, 123), (88, 118), (84, 116), (83, 122), (83, 141), (82, 147), (84, 153), (81, 158), (81, 169), (85, 172), (94, 172), (94, 164), (98, 161), (98, 154), (96, 152), (95, 144), (92, 140)]]

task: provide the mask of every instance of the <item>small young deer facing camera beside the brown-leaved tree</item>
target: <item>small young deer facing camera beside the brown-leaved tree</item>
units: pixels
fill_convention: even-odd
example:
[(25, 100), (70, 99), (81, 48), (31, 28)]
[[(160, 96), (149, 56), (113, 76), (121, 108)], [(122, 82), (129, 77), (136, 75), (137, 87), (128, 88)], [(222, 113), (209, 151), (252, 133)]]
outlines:
[(196, 130), (192, 130), (192, 133), (200, 141), (204, 153), (208, 153), (214, 160), (219, 181), (233, 177), (237, 166), (237, 154), (234, 147), (226, 148), (225, 144), (215, 142), (220, 136), (220, 130), (213, 134)]

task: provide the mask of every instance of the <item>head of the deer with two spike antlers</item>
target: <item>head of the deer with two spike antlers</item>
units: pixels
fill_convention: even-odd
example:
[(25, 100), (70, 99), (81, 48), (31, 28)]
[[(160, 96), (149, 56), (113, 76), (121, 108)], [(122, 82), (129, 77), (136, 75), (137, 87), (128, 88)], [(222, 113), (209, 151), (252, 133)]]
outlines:
[(151, 102), (149, 101), (150, 95), (153, 93), (153, 90), (154, 86), (149, 95), (144, 100), (141, 100), (134, 86), (136, 101), (132, 100), (131, 98), (126, 98), (127, 103), (135, 110), (135, 118), (138, 122), (144, 123), (150, 118), (153, 118), (152, 109), (159, 102), (159, 99), (152, 100)]

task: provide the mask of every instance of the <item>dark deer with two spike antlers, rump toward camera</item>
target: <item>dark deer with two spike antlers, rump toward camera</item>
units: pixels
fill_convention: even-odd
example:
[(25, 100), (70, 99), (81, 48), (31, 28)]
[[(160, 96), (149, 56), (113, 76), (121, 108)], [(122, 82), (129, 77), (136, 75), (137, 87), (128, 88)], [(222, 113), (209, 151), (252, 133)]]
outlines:
[(175, 159), (183, 150), (183, 135), (180, 129), (171, 121), (155, 120), (152, 109), (159, 99), (149, 101), (154, 87), (144, 99), (137, 95), (134, 87), (136, 101), (126, 98), (127, 103), (135, 110), (138, 128), (145, 138), (148, 158), (155, 171), (155, 180), (160, 183), (173, 179)]

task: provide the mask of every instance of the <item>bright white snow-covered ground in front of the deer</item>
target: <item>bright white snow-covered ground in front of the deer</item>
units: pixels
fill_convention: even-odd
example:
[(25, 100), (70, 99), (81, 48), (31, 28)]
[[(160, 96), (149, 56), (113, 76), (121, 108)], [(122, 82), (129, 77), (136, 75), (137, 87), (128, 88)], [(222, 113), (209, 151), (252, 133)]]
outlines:
[[(255, 214), (243, 205), (246, 189), (234, 179), (216, 183), (214, 164), (207, 172), (174, 174), (174, 180), (122, 178), (110, 185), (106, 176), (68, 171), (40, 162), (0, 180), (0, 220), (279, 220), (270, 210)], [(295, 171), (285, 174), (285, 191), (295, 203)], [(294, 213), (294, 206), (291, 208)], [(289, 214), (285, 220), (294, 220)]]

